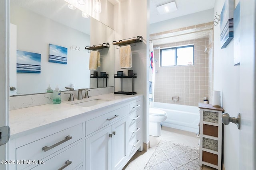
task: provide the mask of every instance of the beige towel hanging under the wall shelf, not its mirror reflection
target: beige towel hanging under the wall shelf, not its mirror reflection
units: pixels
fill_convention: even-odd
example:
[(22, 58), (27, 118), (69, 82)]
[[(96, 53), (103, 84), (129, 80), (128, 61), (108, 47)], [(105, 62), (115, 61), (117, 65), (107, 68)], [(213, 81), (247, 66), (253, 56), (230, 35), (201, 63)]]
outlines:
[(132, 49), (130, 45), (120, 47), (120, 67), (132, 67)]

